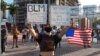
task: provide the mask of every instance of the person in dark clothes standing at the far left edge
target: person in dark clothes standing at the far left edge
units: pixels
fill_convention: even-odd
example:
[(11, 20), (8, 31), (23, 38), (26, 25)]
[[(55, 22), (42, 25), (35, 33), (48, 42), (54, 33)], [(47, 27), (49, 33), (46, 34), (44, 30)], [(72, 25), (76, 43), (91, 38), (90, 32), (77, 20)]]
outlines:
[(1, 26), (1, 53), (5, 52), (5, 44), (6, 44), (6, 27), (5, 25)]

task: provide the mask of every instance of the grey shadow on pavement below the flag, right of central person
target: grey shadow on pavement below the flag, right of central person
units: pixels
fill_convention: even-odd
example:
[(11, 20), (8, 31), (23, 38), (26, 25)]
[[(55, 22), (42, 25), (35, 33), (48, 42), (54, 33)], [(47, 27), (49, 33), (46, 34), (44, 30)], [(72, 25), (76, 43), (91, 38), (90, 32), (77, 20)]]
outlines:
[(79, 50), (82, 50), (82, 49), (84, 49), (84, 48), (77, 46), (77, 45), (65, 44), (61, 48), (57, 48), (55, 54), (56, 54), (56, 56), (64, 56), (68, 53), (79, 51)]

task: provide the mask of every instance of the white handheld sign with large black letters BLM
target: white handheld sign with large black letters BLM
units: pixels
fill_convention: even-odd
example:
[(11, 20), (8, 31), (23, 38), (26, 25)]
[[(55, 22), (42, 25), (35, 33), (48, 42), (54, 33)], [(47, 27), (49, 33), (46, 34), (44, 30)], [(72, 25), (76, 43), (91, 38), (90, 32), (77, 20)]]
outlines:
[(36, 24), (46, 24), (47, 4), (27, 4), (27, 21)]

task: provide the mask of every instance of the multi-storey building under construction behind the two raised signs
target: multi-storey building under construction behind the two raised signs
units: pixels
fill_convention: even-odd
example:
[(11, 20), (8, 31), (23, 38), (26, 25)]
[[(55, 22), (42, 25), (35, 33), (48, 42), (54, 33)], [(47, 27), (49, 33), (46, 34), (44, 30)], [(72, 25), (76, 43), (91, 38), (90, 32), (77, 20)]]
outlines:
[(27, 4), (49, 4), (49, 5), (69, 5), (77, 6), (79, 4), (78, 0), (14, 0), (14, 3), (18, 5), (18, 12), (16, 15), (16, 23), (19, 30), (25, 27), (25, 22), (27, 19)]

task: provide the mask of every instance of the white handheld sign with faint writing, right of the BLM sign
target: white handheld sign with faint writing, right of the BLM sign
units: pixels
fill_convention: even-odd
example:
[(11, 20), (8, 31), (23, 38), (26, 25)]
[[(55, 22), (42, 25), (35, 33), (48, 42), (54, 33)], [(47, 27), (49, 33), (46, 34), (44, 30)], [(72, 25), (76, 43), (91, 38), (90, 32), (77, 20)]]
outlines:
[(50, 24), (56, 26), (70, 25), (70, 17), (67, 6), (51, 6), (50, 7)]

